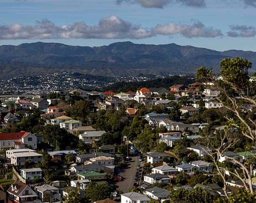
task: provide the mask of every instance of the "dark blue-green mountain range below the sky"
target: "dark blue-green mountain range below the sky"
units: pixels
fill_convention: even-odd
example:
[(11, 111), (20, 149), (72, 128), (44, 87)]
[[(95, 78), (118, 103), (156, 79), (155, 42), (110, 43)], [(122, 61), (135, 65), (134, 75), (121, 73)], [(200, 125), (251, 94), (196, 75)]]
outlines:
[(81, 47), (37, 42), (18, 46), (2, 45), (0, 79), (62, 71), (113, 77), (140, 73), (188, 74), (203, 65), (218, 70), (221, 59), (236, 56), (256, 64), (256, 52), (220, 52), (177, 44), (119, 42), (102, 47)]

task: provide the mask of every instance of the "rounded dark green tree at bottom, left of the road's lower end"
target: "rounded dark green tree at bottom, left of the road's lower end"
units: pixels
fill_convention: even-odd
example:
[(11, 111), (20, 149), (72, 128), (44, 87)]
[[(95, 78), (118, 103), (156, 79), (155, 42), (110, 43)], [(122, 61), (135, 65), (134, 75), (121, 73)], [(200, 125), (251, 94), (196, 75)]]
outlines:
[(95, 182), (91, 182), (89, 183), (85, 193), (88, 199), (91, 201), (97, 201), (108, 198), (111, 192), (111, 186), (106, 185), (105, 183), (97, 184)]

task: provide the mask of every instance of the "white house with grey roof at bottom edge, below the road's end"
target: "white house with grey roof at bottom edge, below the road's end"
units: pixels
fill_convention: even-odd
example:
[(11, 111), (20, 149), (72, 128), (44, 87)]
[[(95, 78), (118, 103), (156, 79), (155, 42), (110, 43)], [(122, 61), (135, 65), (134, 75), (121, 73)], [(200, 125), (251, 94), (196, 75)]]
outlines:
[(150, 201), (149, 197), (137, 192), (121, 194), (121, 203), (149, 203)]

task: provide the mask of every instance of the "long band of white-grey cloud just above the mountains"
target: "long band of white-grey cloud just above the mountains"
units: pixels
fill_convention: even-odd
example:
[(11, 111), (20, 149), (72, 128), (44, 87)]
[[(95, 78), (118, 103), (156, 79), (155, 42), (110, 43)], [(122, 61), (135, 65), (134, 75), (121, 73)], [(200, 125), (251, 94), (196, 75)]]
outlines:
[(168, 23), (153, 28), (144, 28), (124, 21), (116, 16), (109, 16), (99, 20), (98, 25), (88, 26), (85, 22), (72, 25), (56, 26), (53, 22), (44, 19), (35, 25), (22, 24), (0, 26), (0, 39), (58, 39), (58, 38), (99, 38), (99, 39), (140, 39), (155, 35), (181, 34), (184, 37), (218, 37), (220, 30), (207, 28), (201, 22), (193, 25)]

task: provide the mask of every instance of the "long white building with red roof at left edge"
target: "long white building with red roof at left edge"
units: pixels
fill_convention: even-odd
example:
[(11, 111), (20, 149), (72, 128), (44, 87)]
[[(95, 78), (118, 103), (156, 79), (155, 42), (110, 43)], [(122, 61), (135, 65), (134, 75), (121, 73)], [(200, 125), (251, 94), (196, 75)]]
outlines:
[(8, 132), (0, 133), (0, 150), (15, 148), (23, 149), (25, 146), (37, 147), (37, 138), (30, 132)]

